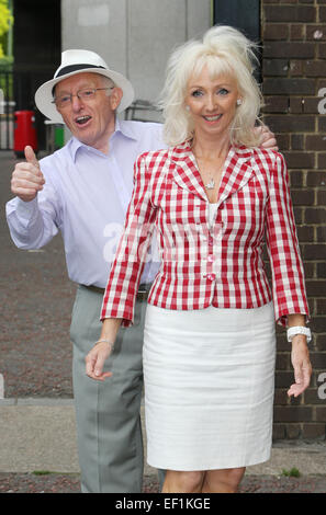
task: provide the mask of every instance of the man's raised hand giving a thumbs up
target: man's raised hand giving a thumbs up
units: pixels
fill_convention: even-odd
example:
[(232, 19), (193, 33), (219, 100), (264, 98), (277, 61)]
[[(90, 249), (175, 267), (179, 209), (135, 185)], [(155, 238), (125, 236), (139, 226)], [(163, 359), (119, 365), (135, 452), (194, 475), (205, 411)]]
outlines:
[(40, 163), (32, 147), (25, 147), (25, 162), (15, 165), (11, 179), (11, 191), (24, 202), (33, 201), (45, 184)]

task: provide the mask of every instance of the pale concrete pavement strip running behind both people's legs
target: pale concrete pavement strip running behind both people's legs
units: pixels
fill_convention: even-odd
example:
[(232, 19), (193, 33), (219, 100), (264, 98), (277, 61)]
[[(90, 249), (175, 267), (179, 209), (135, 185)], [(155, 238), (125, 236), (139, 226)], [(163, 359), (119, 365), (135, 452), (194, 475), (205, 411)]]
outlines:
[[(144, 407), (142, 419), (144, 425)], [(79, 472), (72, 399), (0, 400), (0, 472)], [(326, 477), (326, 443), (274, 443), (271, 459), (248, 467), (247, 476), (281, 476), (292, 468)], [(156, 470), (146, 466), (145, 474)]]

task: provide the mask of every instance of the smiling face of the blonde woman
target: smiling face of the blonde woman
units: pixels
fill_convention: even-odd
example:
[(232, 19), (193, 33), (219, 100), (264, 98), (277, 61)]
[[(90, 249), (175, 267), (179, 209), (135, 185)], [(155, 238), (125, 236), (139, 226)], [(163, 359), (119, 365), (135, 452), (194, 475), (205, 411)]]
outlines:
[(221, 75), (211, 78), (206, 67), (188, 82), (186, 105), (192, 116), (196, 136), (225, 136), (239, 99), (236, 79)]

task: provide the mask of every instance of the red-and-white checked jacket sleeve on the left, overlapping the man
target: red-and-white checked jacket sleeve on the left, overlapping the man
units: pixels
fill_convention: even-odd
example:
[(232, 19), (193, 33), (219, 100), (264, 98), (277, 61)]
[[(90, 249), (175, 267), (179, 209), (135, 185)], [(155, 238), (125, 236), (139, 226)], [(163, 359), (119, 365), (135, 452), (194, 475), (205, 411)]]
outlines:
[(155, 227), (156, 213), (150, 201), (150, 172), (143, 154), (135, 162), (133, 195), (109, 274), (101, 320), (122, 318), (123, 327), (133, 324), (136, 294)]

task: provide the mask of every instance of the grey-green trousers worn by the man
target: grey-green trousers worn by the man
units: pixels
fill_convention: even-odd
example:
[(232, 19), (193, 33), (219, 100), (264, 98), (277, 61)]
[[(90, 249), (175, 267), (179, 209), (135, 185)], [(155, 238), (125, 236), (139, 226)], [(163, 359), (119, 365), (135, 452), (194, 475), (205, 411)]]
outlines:
[(144, 468), (139, 411), (146, 301), (136, 302), (134, 325), (119, 332), (105, 366), (113, 376), (97, 382), (86, 376), (85, 358), (100, 336), (101, 304), (102, 295), (78, 287), (70, 336), (81, 491), (139, 493)]

